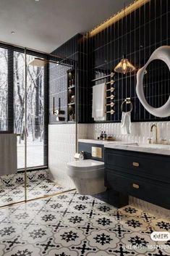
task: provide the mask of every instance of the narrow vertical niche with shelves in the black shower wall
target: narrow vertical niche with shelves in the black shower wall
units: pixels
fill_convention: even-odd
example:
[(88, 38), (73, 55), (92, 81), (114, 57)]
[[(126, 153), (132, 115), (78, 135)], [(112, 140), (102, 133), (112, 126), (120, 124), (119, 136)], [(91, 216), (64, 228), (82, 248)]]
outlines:
[(69, 123), (75, 122), (75, 100), (76, 100), (76, 85), (75, 85), (75, 69), (67, 71), (67, 120)]

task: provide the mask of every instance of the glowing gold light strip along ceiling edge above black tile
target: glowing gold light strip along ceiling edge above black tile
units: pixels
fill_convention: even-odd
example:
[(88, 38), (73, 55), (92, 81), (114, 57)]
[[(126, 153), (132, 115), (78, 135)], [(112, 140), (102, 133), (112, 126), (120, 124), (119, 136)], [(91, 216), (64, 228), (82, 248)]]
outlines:
[(121, 20), (123, 17), (129, 15), (129, 13), (131, 13), (131, 12), (134, 12), (135, 9), (138, 9), (138, 8), (142, 7), (144, 4), (148, 3), (149, 1), (150, 0), (135, 0), (132, 4), (129, 4), (125, 8), (125, 12), (124, 12), (124, 9), (122, 9), (122, 11), (117, 12), (116, 15), (110, 17), (108, 20), (101, 23), (100, 25), (98, 25), (93, 30), (90, 30), (88, 32), (88, 36), (89, 37), (95, 36), (97, 33), (101, 32), (101, 30), (104, 30), (105, 28), (108, 28), (111, 24), (114, 24), (118, 20)]

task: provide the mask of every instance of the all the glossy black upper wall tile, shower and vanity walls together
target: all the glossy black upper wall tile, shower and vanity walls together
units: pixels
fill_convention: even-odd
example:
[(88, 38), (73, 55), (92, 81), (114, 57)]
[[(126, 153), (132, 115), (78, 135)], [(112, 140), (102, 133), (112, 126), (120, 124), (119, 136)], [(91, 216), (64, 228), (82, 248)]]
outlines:
[[(159, 46), (170, 45), (170, 1), (150, 0), (122, 20), (101, 30), (91, 38), (77, 34), (51, 54), (59, 55), (61, 62), (69, 66), (50, 65), (49, 71), (49, 122), (56, 123), (51, 115), (53, 97), (56, 107), (61, 98), (61, 109), (67, 112), (67, 70), (77, 64), (77, 121), (92, 123), (92, 88), (109, 78), (91, 82), (95, 78), (109, 75), (126, 51), (127, 59), (135, 65), (134, 73), (115, 75), (114, 115), (107, 114), (107, 122), (120, 122), (121, 104), (130, 97), (133, 105), (132, 121), (170, 120), (150, 115), (135, 91), (137, 70), (145, 65), (152, 52)], [(69, 59), (63, 60), (62, 57)], [(56, 57), (54, 57), (56, 59)], [(71, 61), (72, 59), (72, 61)], [(153, 107), (161, 107), (169, 98), (170, 75), (166, 65), (153, 61), (144, 78), (145, 97)], [(110, 110), (110, 107), (108, 107)], [(67, 121), (67, 115), (65, 115)]]

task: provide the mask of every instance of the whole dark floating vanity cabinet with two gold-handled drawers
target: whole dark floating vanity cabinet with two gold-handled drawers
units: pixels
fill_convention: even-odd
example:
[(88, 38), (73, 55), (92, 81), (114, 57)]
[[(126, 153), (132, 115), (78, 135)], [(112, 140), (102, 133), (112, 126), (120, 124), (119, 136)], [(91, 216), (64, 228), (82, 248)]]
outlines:
[(117, 207), (130, 195), (170, 209), (170, 157), (105, 148), (105, 185)]

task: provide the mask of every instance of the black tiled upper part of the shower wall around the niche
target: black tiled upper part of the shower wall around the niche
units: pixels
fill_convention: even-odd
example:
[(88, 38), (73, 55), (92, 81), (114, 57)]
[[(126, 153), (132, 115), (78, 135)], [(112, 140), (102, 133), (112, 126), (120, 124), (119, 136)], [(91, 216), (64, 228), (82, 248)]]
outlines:
[[(55, 51), (53, 59), (64, 65), (50, 64), (49, 67), (49, 123), (56, 122), (56, 116), (52, 115), (53, 98), (56, 107), (59, 107), (61, 98), (61, 110), (65, 111), (67, 122), (67, 70), (77, 69), (77, 121), (86, 123), (88, 120), (88, 93), (87, 93), (87, 43), (85, 36), (77, 34), (62, 44)], [(59, 58), (57, 58), (59, 56)], [(67, 59), (65, 59), (67, 58)]]

